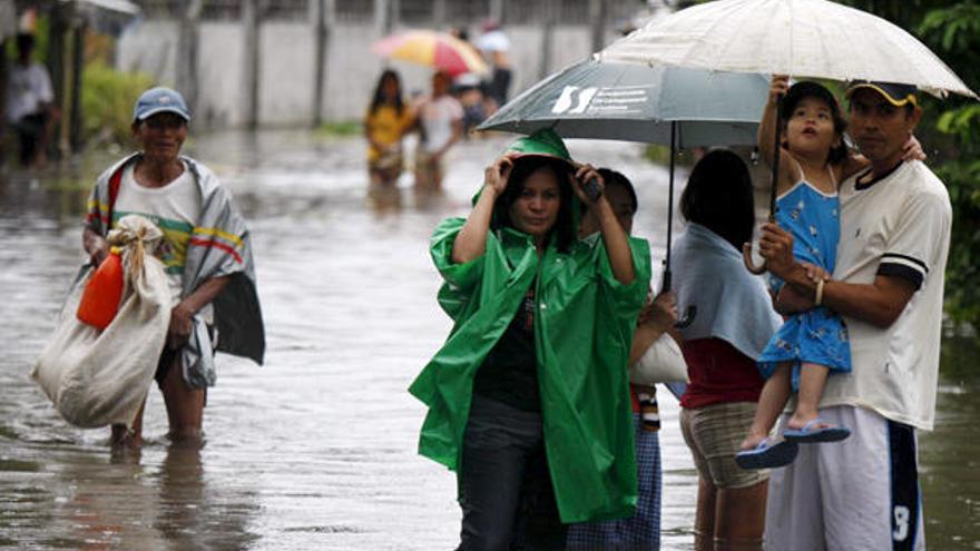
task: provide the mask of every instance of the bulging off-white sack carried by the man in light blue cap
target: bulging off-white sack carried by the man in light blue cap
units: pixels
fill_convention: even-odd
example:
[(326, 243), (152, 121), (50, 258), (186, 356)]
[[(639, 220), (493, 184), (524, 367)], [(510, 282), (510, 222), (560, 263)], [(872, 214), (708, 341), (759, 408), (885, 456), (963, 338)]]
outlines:
[(122, 250), (125, 288), (116, 317), (99, 331), (76, 317), (94, 270), (79, 274), (31, 378), (69, 423), (131, 426), (153, 383), (170, 323), (164, 265), (153, 256), (163, 233), (139, 215), (122, 217), (108, 242)]

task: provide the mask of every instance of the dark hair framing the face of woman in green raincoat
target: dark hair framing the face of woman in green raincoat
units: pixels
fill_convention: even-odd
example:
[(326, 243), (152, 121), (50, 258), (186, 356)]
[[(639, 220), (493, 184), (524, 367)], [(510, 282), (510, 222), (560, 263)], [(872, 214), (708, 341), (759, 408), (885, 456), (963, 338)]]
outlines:
[(568, 175), (571, 173), (567, 163), (559, 159), (552, 159), (540, 155), (529, 155), (513, 161), (513, 169), (510, 171), (509, 183), (503, 194), (497, 198), (493, 205), (493, 220), (490, 227), (494, 230), (503, 227), (513, 227), (510, 220), (510, 207), (513, 201), (521, 196), (525, 190), (525, 183), (528, 177), (538, 169), (545, 168), (551, 170), (555, 179), (558, 180), (558, 191), (561, 197), (561, 206), (558, 209), (558, 219), (551, 228), (551, 235), (557, 239), (558, 250), (568, 253), (571, 244), (576, 242), (578, 236), (575, 227), (575, 217), (572, 213), (572, 191), (568, 183)]

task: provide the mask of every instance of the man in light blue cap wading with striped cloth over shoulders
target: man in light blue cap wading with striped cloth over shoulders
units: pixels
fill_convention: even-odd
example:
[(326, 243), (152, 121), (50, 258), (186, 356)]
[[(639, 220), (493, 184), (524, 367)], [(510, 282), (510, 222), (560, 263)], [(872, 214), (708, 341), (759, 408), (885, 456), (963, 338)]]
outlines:
[[(82, 246), (96, 267), (122, 216), (141, 215), (163, 230), (156, 255), (167, 274), (171, 309), (155, 378), (171, 440), (199, 442), (207, 387), (216, 380), (213, 351), (262, 363), (265, 333), (245, 222), (217, 176), (180, 154), (189, 120), (176, 90), (153, 88), (139, 97), (131, 128), (140, 150), (99, 176)], [(143, 409), (131, 422), (112, 425), (111, 442), (138, 445), (141, 431)]]

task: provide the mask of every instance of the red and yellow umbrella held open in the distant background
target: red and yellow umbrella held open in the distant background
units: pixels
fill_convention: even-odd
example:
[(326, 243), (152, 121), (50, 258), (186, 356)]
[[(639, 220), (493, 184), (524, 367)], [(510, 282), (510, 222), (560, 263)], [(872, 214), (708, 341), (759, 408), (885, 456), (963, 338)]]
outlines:
[(472, 46), (445, 32), (399, 32), (375, 42), (372, 51), (385, 58), (432, 67), (451, 77), (488, 71), (487, 63)]

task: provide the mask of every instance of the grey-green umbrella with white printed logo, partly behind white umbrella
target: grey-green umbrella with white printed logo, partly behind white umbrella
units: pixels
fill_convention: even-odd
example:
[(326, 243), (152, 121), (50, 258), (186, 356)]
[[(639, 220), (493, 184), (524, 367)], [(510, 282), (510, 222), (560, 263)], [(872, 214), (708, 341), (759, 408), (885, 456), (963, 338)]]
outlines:
[[(670, 146), (667, 256), (670, 289), (674, 155), (678, 147), (755, 145), (770, 78), (685, 67), (588, 60), (552, 75), (509, 101), (478, 130)], [(685, 321), (694, 313), (685, 315)], [(683, 323), (683, 322), (682, 322)]]

